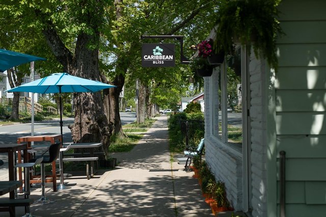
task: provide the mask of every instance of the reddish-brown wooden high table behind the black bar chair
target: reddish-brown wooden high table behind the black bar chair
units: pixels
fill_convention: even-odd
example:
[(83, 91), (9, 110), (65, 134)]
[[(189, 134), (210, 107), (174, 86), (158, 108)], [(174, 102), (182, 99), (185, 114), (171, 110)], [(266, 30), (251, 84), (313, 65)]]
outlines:
[[(17, 138), (17, 143), (20, 144), (22, 142), (28, 143), (28, 148), (33, 148), (31, 145), (32, 142), (50, 142), (51, 144), (55, 144), (56, 141), (62, 142), (61, 134), (54, 135), (29, 135), (27, 137), (19, 137)], [(26, 155), (24, 155), (26, 156)], [(28, 158), (27, 158), (28, 159)], [(24, 158), (25, 160), (25, 158)], [(18, 162), (21, 162), (21, 156), (18, 154)], [(22, 180), (21, 168), (19, 171), (19, 180)], [(33, 180), (33, 176), (31, 178), (31, 183), (40, 183), (41, 179)], [(52, 182), (53, 184), (53, 192), (57, 191), (57, 174), (56, 174), (56, 160), (52, 162), (52, 176), (50, 179), (45, 179), (45, 182)]]

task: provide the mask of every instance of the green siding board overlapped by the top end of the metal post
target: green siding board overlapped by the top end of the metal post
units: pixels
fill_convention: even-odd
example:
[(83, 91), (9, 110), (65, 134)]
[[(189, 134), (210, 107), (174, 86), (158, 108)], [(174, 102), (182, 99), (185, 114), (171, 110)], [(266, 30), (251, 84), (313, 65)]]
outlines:
[(288, 158), (326, 158), (326, 135), (285, 135), (277, 138), (277, 153)]

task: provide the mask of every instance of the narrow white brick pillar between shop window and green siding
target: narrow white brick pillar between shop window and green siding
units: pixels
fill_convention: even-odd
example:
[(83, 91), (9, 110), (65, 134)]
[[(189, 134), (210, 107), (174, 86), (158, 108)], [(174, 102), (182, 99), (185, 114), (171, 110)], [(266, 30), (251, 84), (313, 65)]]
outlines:
[[(252, 52), (253, 53), (253, 52)], [(266, 131), (263, 91), (264, 87), (264, 64), (251, 55), (250, 61), (250, 91), (251, 91), (251, 156), (252, 162), (252, 216), (267, 216), (267, 180), (266, 180), (266, 142), (264, 133)]]

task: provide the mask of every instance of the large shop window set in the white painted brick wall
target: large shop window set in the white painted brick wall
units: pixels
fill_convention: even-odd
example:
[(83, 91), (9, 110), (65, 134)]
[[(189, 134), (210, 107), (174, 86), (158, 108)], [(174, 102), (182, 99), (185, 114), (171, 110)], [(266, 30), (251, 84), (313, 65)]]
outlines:
[[(221, 68), (222, 67), (222, 68)], [(241, 48), (218, 69), (213, 80), (212, 134), (224, 144), (242, 147)]]

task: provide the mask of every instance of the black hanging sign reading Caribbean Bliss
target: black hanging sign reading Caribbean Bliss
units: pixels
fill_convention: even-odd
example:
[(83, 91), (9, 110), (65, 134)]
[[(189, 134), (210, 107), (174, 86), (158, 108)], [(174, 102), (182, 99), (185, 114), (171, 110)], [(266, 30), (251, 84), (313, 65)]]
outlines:
[(143, 67), (174, 67), (175, 44), (143, 44)]

